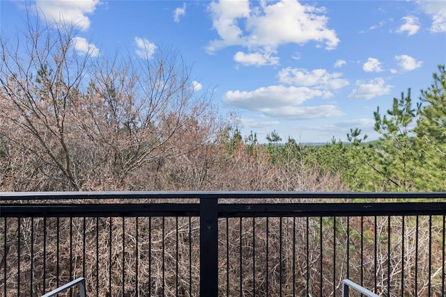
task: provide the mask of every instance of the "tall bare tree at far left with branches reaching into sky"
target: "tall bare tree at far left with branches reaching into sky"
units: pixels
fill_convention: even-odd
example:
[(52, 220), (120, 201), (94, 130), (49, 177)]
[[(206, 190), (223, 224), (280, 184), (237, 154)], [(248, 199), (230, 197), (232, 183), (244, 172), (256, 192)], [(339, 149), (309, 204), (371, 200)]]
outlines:
[(89, 55), (76, 56), (73, 63), (72, 28), (40, 29), (40, 24), (28, 24), (26, 30), (16, 45), (0, 37), (3, 140), (33, 155), (33, 160), (26, 161), (36, 168), (34, 179), (52, 176), (69, 189), (79, 190), (68, 121)]

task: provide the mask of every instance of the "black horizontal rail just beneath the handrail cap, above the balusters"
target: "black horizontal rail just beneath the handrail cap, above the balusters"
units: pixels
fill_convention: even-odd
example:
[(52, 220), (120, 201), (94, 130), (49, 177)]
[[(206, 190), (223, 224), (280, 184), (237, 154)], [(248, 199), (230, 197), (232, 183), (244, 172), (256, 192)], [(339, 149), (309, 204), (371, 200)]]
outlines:
[[(2, 203), (4, 217), (200, 216), (196, 203)], [(220, 218), (445, 215), (446, 202), (217, 203)]]

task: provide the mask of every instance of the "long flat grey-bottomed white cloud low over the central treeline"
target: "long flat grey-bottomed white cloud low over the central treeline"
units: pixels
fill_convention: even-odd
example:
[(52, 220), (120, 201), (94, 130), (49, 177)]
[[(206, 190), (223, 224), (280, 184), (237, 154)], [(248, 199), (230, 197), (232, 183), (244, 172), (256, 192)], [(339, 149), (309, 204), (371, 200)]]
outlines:
[(248, 111), (260, 111), (263, 115), (274, 118), (302, 120), (309, 118), (327, 118), (341, 115), (341, 110), (334, 105), (300, 106), (314, 97), (327, 97), (330, 92), (312, 90), (306, 87), (268, 86), (252, 91), (228, 91), (223, 101), (233, 107)]

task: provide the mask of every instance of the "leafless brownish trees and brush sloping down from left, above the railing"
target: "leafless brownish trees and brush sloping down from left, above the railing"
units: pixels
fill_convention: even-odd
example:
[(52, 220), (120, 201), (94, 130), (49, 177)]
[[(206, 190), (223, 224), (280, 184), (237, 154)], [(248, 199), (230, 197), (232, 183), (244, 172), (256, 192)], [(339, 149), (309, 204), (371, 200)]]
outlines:
[(0, 191), (344, 191), (297, 145), (243, 140), (169, 47), (77, 54), (66, 26), (1, 36)]

